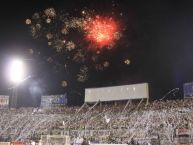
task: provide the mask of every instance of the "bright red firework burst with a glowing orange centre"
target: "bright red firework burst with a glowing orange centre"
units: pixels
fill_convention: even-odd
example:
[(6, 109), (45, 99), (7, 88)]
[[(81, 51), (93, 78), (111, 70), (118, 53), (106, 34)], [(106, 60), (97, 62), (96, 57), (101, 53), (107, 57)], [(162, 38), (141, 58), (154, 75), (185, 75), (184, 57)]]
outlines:
[(86, 21), (84, 29), (87, 40), (95, 47), (102, 48), (113, 43), (118, 26), (112, 18), (97, 16)]

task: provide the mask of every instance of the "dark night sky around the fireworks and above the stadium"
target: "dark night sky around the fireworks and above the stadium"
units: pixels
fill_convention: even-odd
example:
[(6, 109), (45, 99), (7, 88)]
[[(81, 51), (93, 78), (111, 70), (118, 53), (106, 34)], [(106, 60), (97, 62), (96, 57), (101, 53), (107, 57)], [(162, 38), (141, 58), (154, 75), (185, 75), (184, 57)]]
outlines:
[[(44, 40), (33, 39), (25, 20), (35, 12), (54, 8), (64, 13), (79, 13), (87, 8), (98, 14), (121, 13), (127, 29), (119, 44), (109, 53), (111, 65), (104, 71), (89, 70), (89, 79), (77, 82), (72, 66), (64, 68), (45, 60)], [(41, 95), (68, 93), (69, 104), (82, 104), (85, 87), (116, 86), (148, 82), (150, 98), (160, 99), (169, 90), (180, 92), (168, 98), (183, 98), (183, 84), (193, 81), (193, 3), (191, 1), (107, 1), (107, 0), (31, 0), (1, 2), (0, 5), (0, 92), (10, 95), (6, 78), (8, 61), (20, 56), (26, 60), (32, 78), (19, 87), (20, 106), (38, 106)], [(34, 54), (29, 53), (34, 50)], [(40, 53), (40, 54), (38, 54)], [(125, 65), (125, 59), (131, 61)], [(60, 63), (57, 60), (57, 63)], [(73, 65), (73, 64), (72, 64)], [(61, 86), (66, 80), (68, 86)]]

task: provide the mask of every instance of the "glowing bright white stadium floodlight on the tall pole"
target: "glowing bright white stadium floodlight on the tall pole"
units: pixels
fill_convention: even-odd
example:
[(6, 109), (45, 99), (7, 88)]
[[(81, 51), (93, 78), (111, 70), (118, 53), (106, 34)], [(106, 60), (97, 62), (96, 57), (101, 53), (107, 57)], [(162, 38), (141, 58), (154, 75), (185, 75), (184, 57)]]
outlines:
[(11, 61), (10, 66), (9, 66), (9, 77), (10, 80), (13, 83), (20, 83), (23, 80), (23, 75), (24, 75), (24, 64), (21, 59), (14, 59)]

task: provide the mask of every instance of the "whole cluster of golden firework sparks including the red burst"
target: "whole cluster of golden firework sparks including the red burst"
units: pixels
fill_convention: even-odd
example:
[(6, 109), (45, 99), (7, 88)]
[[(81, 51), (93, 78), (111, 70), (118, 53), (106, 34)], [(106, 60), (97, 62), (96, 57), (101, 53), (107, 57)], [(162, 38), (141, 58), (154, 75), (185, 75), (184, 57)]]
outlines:
[[(25, 20), (25, 23), (29, 25), (33, 38), (47, 39), (49, 48), (57, 52), (54, 55), (65, 60), (61, 62), (65, 69), (69, 69), (66, 61), (82, 64), (77, 74), (77, 81), (85, 82), (88, 80), (90, 68), (103, 71), (110, 66), (108, 59), (104, 61), (102, 58), (104, 55), (101, 48), (112, 49), (122, 34), (118, 27), (119, 23), (111, 16), (96, 16), (94, 10), (88, 9), (80, 11), (80, 14), (80, 17), (74, 17), (69, 13), (47, 8), (42, 12), (34, 13), (31, 19)], [(96, 51), (89, 51), (90, 48)], [(53, 58), (57, 56), (48, 56), (47, 63), (53, 63)], [(88, 62), (92, 65), (89, 68), (86, 66)]]

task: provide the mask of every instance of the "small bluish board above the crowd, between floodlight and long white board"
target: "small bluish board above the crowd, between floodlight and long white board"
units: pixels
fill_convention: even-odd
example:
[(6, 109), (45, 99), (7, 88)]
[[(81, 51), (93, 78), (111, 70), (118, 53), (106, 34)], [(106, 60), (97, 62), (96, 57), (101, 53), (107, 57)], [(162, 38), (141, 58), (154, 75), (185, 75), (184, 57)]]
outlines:
[(67, 95), (49, 95), (41, 97), (41, 105), (42, 108), (51, 108), (64, 106), (67, 104)]

